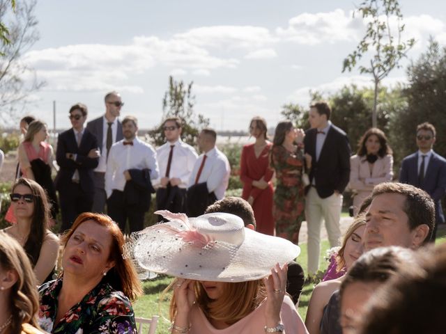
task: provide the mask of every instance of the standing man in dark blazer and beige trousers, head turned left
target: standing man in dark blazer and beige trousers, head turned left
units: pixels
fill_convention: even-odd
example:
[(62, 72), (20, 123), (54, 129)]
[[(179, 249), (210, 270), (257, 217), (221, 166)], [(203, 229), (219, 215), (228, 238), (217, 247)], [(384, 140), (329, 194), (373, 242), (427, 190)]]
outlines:
[(330, 246), (339, 246), (342, 193), (350, 177), (350, 145), (346, 133), (330, 122), (327, 102), (310, 106), (311, 129), (305, 134), (305, 153), (311, 156), (310, 185), (307, 186), (305, 216), (308, 226), (308, 272), (319, 266), (322, 218)]

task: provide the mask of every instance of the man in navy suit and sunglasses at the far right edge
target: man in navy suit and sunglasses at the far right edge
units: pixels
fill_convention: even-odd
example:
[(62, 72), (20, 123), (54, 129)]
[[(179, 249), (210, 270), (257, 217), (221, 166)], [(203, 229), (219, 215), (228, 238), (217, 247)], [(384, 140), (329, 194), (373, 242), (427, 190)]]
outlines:
[(418, 125), (418, 152), (405, 157), (399, 171), (399, 182), (423, 189), (435, 202), (436, 223), (431, 234), (431, 241), (435, 241), (437, 225), (445, 222), (441, 199), (446, 193), (446, 159), (433, 152), (435, 139), (436, 130), (433, 125), (428, 122)]

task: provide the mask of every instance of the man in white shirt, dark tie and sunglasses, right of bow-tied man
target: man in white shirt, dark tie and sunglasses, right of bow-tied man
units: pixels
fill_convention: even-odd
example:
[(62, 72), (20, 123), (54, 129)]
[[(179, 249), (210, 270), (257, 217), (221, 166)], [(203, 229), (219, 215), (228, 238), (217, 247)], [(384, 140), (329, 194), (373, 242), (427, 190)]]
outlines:
[(166, 143), (157, 148), (160, 177), (153, 182), (157, 209), (185, 212), (186, 188), (198, 154), (191, 145), (181, 141), (182, 121), (178, 117), (164, 120), (162, 130)]

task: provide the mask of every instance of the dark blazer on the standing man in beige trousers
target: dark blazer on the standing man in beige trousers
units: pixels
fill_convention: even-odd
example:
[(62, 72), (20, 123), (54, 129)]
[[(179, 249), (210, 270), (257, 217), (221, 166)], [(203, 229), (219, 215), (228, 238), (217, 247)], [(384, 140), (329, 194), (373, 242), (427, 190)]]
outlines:
[[(305, 153), (312, 156), (309, 180), (316, 177), (316, 190), (321, 198), (332, 196), (335, 190), (343, 193), (350, 178), (350, 144), (344, 131), (331, 125), (325, 137), (319, 160), (316, 161), (317, 129), (305, 133)], [(308, 191), (309, 186), (306, 191)]]

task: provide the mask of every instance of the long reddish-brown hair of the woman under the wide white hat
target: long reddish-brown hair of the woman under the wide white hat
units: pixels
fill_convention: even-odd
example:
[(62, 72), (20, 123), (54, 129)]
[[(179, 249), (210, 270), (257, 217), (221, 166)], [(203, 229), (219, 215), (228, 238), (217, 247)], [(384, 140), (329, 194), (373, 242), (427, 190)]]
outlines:
[[(174, 280), (167, 289), (174, 286)], [(225, 324), (235, 324), (254, 311), (266, 298), (266, 288), (263, 280), (249, 280), (239, 283), (224, 283), (224, 294), (217, 300), (210, 299), (199, 281), (194, 282), (196, 301), (199, 308), (208, 319), (223, 321)], [(176, 317), (175, 293), (170, 303), (170, 318)]]

